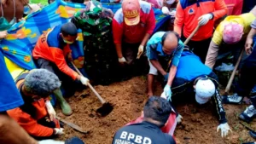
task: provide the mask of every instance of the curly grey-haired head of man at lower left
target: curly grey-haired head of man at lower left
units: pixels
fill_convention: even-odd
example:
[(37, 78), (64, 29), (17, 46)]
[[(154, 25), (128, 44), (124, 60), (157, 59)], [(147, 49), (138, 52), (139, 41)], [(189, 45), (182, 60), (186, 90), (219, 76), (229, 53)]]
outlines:
[(53, 72), (34, 69), (26, 76), (24, 86), (29, 94), (47, 97), (55, 89), (60, 88), (61, 82)]

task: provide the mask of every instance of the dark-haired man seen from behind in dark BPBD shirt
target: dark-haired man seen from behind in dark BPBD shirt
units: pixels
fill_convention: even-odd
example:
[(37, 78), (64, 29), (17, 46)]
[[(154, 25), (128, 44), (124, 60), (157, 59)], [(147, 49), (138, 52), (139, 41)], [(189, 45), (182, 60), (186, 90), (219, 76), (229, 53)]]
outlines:
[(175, 144), (171, 135), (160, 130), (167, 123), (171, 112), (172, 107), (168, 101), (151, 96), (143, 108), (143, 122), (131, 124), (118, 130), (112, 144)]

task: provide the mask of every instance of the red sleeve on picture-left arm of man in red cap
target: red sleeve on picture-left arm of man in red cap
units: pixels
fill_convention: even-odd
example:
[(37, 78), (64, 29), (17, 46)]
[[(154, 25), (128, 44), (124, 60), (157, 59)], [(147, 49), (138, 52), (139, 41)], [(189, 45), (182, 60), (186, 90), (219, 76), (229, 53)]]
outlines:
[(113, 19), (112, 29), (113, 29), (113, 43), (121, 44), (122, 37), (123, 37), (123, 26)]

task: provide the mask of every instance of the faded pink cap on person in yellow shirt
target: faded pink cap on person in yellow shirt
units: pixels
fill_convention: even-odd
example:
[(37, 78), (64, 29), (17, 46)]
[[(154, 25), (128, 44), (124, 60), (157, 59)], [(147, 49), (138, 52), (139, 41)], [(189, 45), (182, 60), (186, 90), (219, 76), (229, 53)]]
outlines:
[(229, 23), (224, 26), (223, 40), (225, 43), (233, 44), (241, 40), (243, 26), (237, 23)]

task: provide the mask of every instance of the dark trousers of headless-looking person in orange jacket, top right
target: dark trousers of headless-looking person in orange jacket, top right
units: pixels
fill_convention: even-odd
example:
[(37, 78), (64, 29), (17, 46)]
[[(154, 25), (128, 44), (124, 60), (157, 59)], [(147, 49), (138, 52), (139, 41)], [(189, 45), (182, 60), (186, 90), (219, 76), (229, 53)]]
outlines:
[[(181, 39), (183, 42), (185, 42), (187, 38), (181, 37)], [(212, 40), (212, 37), (209, 37), (201, 41), (190, 40), (189, 43), (187, 44), (189, 46), (189, 49), (192, 50), (195, 55), (200, 57), (202, 63), (205, 63), (206, 61), (207, 52), (208, 52), (211, 40)]]

